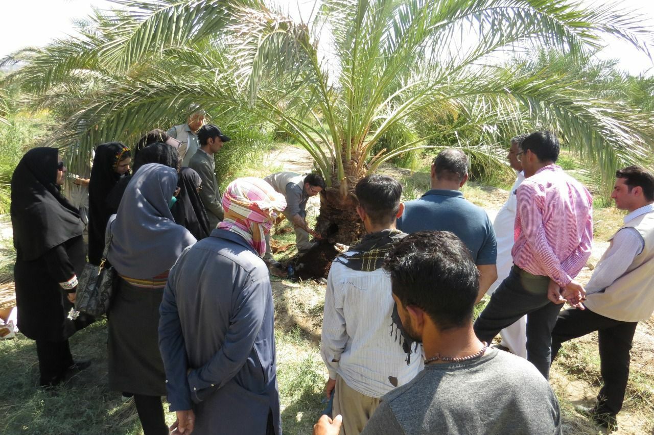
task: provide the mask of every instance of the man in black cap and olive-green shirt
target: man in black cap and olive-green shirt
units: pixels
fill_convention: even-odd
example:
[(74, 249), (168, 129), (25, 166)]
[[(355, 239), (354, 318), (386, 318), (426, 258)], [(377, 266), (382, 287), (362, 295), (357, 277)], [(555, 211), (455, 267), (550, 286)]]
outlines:
[(198, 172), (200, 178), (202, 178), (200, 199), (207, 209), (209, 227), (214, 229), (218, 222), (222, 221), (224, 210), (222, 210), (222, 203), (220, 202), (222, 195), (220, 195), (218, 189), (213, 155), (222, 148), (223, 142), (228, 142), (230, 138), (223, 135), (216, 125), (207, 124), (198, 130), (198, 139), (200, 148), (191, 157), (188, 167)]

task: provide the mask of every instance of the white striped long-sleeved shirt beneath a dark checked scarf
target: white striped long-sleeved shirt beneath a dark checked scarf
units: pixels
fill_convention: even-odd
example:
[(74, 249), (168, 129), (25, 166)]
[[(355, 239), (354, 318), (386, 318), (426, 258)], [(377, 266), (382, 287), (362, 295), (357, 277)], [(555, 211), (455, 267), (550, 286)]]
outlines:
[(422, 370), (422, 346), (411, 349), (411, 363), (406, 362), (391, 319), (393, 306), (390, 277), (383, 269), (360, 272), (332, 263), (320, 338), (330, 378), (339, 374), (349, 387), (378, 398)]

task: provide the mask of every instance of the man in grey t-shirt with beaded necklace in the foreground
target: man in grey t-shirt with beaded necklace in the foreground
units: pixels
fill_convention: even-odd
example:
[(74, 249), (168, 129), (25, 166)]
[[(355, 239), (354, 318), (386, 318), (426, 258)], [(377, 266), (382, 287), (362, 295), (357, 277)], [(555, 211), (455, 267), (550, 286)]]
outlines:
[[(458, 237), (406, 236), (383, 268), (404, 330), (422, 342), (426, 360), (411, 382), (381, 398), (363, 435), (562, 433), (559, 402), (533, 364), (475, 336), (479, 271)], [(336, 435), (339, 422), (323, 416), (314, 433)]]

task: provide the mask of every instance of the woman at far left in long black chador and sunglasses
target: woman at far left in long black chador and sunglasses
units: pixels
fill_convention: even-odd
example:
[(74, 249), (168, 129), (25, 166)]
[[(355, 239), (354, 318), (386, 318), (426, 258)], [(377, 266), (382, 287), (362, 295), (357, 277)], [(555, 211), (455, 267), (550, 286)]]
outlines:
[(68, 344), (88, 324), (82, 317), (67, 317), (84, 269), (84, 225), (77, 208), (61, 195), (66, 168), (58, 155), (57, 148), (33, 148), (11, 178), (18, 328), (37, 342), (42, 387), (57, 385), (69, 370), (90, 364), (76, 364)]

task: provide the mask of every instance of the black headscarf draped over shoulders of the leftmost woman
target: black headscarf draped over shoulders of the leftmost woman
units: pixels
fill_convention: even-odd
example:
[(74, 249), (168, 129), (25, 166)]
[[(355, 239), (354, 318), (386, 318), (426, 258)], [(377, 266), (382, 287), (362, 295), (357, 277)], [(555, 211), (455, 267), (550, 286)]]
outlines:
[(57, 181), (59, 150), (33, 148), (11, 177), (11, 223), (18, 259), (35, 260), (75, 236), (84, 225)]

